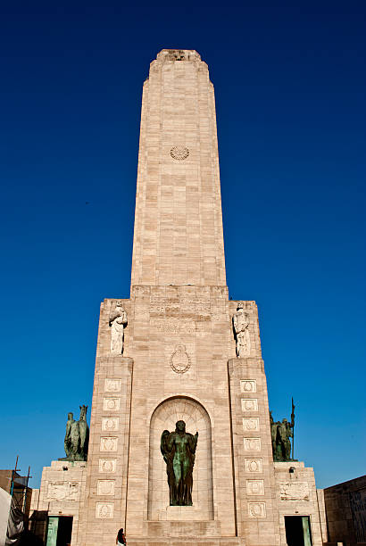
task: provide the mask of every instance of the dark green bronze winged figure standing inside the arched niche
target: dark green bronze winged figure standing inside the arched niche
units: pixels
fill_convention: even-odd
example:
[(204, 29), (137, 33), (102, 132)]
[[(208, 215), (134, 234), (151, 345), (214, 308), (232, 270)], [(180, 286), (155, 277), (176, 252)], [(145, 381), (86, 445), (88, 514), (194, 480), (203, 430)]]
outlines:
[(171, 506), (192, 506), (193, 467), (198, 433), (186, 432), (186, 423), (177, 421), (175, 432), (164, 430), (160, 443), (166, 463)]

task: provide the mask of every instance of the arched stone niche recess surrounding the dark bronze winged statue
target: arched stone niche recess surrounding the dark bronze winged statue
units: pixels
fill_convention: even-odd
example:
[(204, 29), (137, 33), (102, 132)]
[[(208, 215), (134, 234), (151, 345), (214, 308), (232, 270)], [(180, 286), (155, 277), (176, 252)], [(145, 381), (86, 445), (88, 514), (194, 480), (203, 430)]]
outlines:
[[(174, 431), (180, 419), (185, 421), (187, 433), (195, 434), (198, 431), (199, 434), (193, 469), (193, 507), (171, 507), (171, 510), (160, 439), (162, 431)], [(147, 518), (153, 521), (169, 520), (175, 518), (177, 509), (180, 520), (213, 519), (211, 419), (202, 404), (186, 396), (174, 396), (162, 401), (154, 409), (150, 421)]]

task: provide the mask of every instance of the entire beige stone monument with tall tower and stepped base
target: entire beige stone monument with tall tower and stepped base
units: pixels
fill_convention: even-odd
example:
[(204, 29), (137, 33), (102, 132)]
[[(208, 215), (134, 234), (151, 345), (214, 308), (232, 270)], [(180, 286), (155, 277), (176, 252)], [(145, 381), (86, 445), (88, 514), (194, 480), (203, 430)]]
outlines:
[(87, 462), (64, 464), (45, 468), (40, 506), (57, 479), (78, 485), (58, 510), (72, 545), (123, 527), (129, 546), (274, 546), (295, 514), (304, 545), (322, 543), (312, 469), (273, 461), (257, 307), (229, 301), (215, 99), (195, 51), (150, 65), (130, 297), (101, 305)]

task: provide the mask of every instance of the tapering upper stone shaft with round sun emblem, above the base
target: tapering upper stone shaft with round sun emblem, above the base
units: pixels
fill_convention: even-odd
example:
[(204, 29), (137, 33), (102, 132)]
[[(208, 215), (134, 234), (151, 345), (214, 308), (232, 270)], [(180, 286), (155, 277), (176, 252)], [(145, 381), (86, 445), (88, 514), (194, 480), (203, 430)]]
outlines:
[(131, 285), (225, 286), (213, 86), (163, 50), (144, 85)]

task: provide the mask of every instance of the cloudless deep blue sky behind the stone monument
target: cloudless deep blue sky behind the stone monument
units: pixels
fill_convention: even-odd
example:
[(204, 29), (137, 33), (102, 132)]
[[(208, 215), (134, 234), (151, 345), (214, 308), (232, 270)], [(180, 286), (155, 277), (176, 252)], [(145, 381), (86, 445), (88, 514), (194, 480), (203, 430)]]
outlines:
[(162, 48), (215, 86), (229, 294), (319, 487), (365, 473), (365, 14), (354, 2), (0, 6), (0, 467), (63, 456), (99, 304), (129, 297), (141, 91)]

